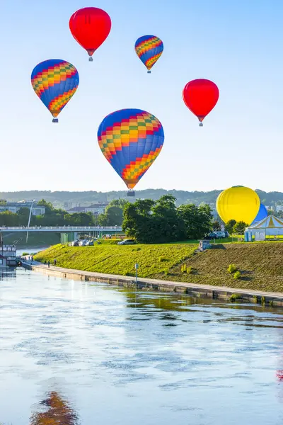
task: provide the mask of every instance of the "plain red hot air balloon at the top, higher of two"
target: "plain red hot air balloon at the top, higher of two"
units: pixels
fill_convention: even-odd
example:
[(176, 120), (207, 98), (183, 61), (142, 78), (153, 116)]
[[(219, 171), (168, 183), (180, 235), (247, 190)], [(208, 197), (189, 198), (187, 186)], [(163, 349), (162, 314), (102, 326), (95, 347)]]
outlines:
[(73, 13), (69, 28), (74, 39), (79, 42), (92, 62), (93, 53), (108, 38), (111, 30), (111, 19), (108, 13), (97, 7), (85, 7)]

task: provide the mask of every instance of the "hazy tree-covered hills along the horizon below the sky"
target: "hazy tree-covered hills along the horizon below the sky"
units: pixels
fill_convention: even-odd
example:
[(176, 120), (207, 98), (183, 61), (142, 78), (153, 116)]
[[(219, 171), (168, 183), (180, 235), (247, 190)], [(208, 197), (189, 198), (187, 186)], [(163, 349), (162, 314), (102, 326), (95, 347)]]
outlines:
[[(182, 203), (195, 203), (199, 205), (200, 203), (215, 204), (216, 198), (219, 195), (221, 190), (209, 191), (209, 192), (188, 192), (188, 191), (176, 191), (175, 189), (171, 191), (166, 191), (165, 189), (146, 189), (144, 191), (136, 191), (135, 199), (144, 199), (150, 198), (157, 200), (162, 195), (168, 193), (172, 194), (177, 198), (178, 205)], [(260, 200), (265, 203), (265, 205), (275, 205), (275, 203), (283, 203), (283, 193), (282, 192), (264, 192), (257, 190)], [(51, 192), (51, 191), (21, 191), (21, 192), (0, 192), (0, 198), (6, 199), (8, 201), (17, 202), (19, 200), (40, 200), (45, 198), (48, 202), (51, 202), (56, 207), (66, 206), (65, 204), (81, 206), (90, 205), (91, 203), (98, 202), (109, 202), (112, 199), (117, 198), (126, 198), (127, 191), (112, 191), (112, 192)], [(129, 200), (134, 200), (134, 198), (128, 198)]]

